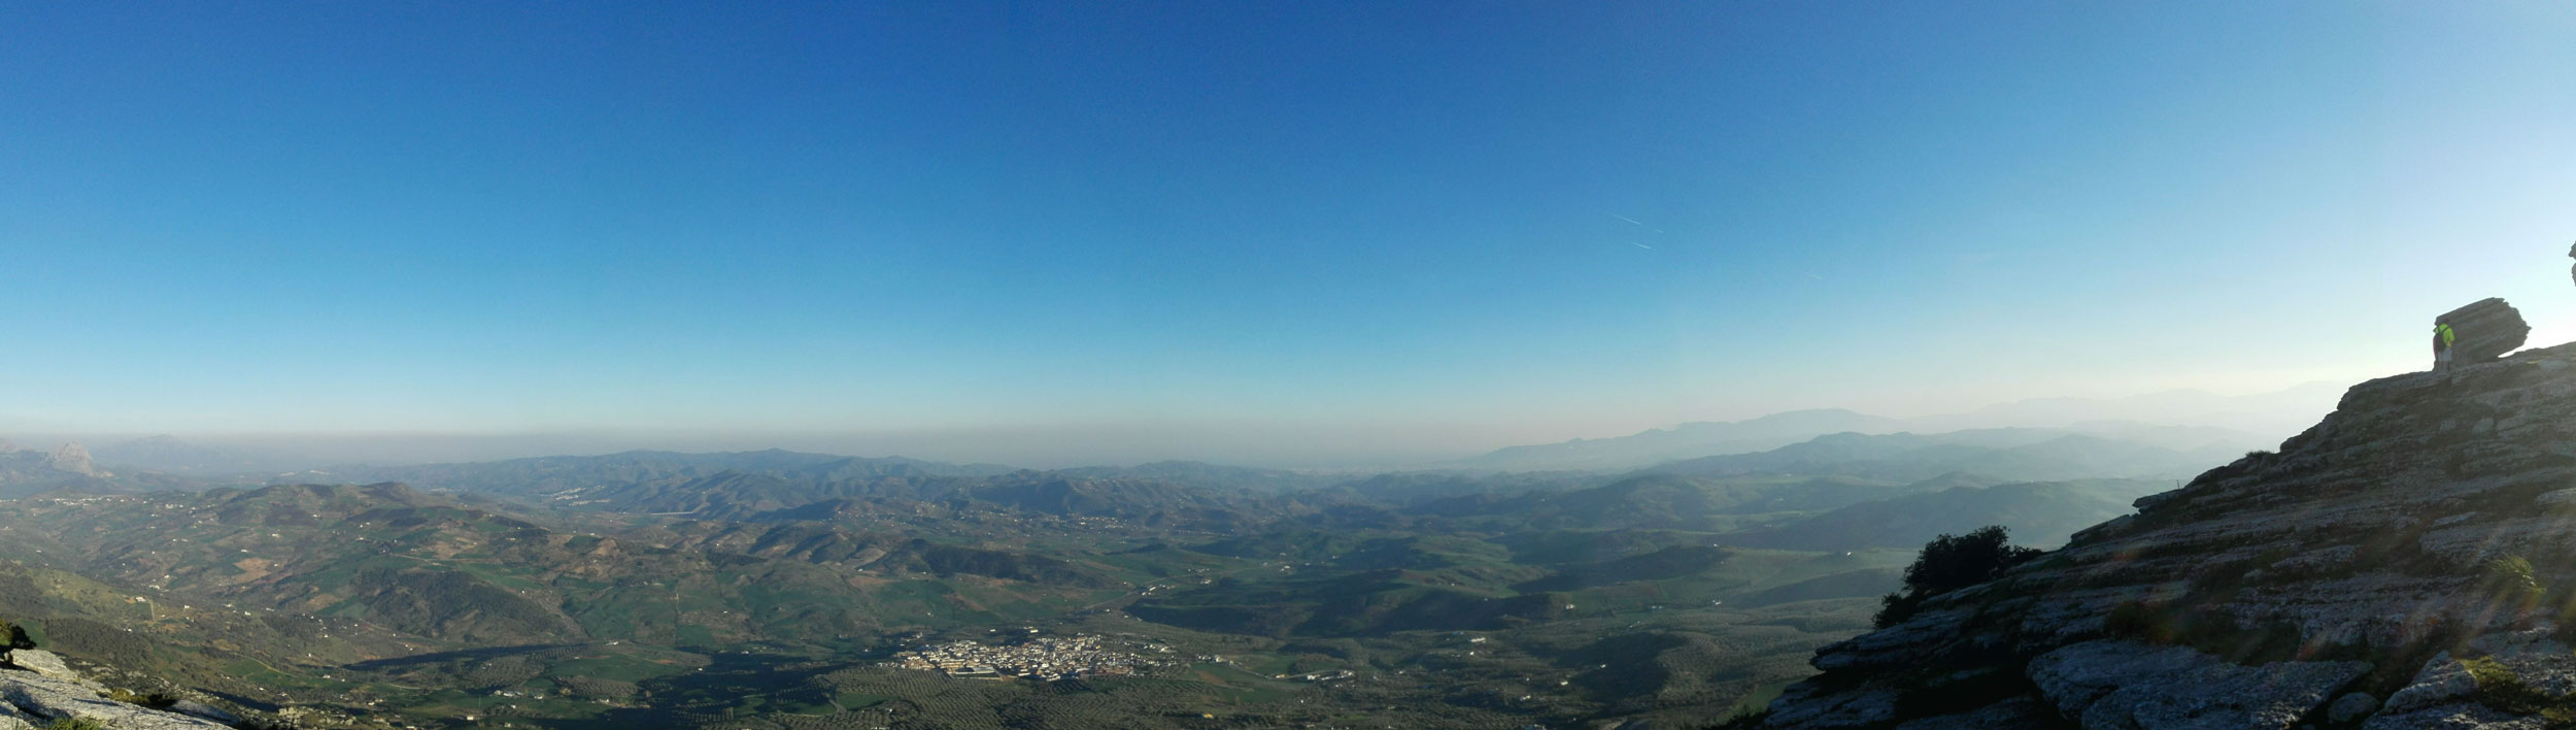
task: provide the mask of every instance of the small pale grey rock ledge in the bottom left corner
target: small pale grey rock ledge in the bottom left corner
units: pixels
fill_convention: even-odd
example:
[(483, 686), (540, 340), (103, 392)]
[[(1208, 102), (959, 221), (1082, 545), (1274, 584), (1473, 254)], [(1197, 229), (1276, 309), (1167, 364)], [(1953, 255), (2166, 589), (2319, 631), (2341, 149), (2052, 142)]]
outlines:
[[(106, 699), (108, 689), (67, 668), (62, 658), (41, 650), (0, 653), (0, 730), (49, 727), (57, 720), (90, 720), (113, 730), (229, 730), (232, 725), (209, 717), (227, 712), (178, 702), (173, 709), (152, 709)], [(196, 712), (196, 715), (188, 715)]]

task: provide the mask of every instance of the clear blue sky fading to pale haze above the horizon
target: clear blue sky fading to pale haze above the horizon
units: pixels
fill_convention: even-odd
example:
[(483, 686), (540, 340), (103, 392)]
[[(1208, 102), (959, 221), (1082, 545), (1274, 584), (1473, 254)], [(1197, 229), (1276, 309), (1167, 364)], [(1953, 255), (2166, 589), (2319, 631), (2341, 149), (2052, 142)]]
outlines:
[(10, 3), (0, 433), (1260, 459), (2349, 382), (2491, 294), (2576, 338), (2571, 39), (2566, 3)]

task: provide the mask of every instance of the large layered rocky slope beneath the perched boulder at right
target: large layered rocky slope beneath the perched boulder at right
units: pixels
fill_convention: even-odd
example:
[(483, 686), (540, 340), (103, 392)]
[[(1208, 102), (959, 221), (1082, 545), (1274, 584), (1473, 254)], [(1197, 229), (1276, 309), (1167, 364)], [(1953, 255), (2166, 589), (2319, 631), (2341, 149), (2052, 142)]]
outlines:
[(2136, 506), (1821, 647), (1749, 725), (2576, 722), (2576, 346), (2357, 384)]

